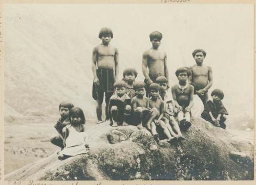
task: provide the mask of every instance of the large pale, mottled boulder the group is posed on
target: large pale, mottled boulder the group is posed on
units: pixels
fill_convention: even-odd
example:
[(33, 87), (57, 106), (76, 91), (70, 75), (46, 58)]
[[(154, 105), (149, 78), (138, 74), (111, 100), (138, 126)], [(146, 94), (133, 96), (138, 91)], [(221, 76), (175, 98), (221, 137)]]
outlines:
[(173, 145), (157, 144), (135, 126), (95, 125), (88, 130), (90, 154), (59, 161), (54, 153), (5, 180), (253, 179), (252, 133), (191, 122), (185, 141)]

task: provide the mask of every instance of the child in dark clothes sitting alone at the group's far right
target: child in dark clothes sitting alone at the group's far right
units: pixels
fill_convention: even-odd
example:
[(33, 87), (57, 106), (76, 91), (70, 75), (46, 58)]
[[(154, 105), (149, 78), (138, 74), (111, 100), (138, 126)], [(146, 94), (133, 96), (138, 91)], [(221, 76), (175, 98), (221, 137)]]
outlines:
[(226, 128), (226, 115), (228, 115), (226, 108), (224, 107), (221, 100), (224, 97), (224, 93), (220, 89), (215, 89), (211, 92), (212, 100), (206, 102), (202, 118), (215, 126)]

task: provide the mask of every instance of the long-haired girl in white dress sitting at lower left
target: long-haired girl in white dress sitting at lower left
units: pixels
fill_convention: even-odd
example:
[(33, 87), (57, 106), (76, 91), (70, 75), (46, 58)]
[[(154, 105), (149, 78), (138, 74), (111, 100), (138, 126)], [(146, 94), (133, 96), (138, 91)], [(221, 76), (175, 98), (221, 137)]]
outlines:
[(58, 155), (59, 160), (65, 160), (70, 156), (75, 156), (89, 152), (89, 145), (86, 143), (86, 118), (80, 108), (74, 107), (70, 110), (71, 124), (63, 128), (63, 145), (65, 148)]

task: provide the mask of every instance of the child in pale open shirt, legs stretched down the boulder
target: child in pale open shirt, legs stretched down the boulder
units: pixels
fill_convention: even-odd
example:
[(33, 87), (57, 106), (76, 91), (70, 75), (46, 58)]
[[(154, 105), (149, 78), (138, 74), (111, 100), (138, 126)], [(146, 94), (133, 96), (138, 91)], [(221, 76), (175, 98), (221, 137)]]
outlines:
[[(184, 140), (182, 136), (180, 127), (174, 118), (174, 101), (172, 98), (172, 92), (167, 90), (168, 80), (165, 76), (159, 76), (156, 79), (156, 83), (160, 86), (160, 98), (164, 102), (164, 115), (162, 120), (167, 125), (170, 135), (178, 138), (179, 140)], [(173, 131), (174, 129), (174, 131)]]

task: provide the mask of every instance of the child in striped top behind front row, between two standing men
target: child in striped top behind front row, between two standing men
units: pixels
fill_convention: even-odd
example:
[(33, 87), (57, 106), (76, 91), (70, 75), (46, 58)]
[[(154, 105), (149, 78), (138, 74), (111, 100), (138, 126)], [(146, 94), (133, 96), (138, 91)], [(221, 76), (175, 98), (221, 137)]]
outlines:
[(123, 81), (126, 82), (126, 94), (133, 99), (135, 96), (135, 90), (134, 90), (134, 81), (137, 77), (138, 72), (134, 68), (126, 68), (123, 71)]

